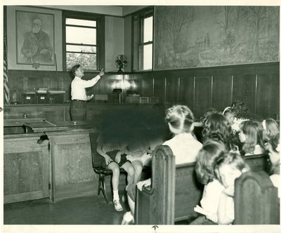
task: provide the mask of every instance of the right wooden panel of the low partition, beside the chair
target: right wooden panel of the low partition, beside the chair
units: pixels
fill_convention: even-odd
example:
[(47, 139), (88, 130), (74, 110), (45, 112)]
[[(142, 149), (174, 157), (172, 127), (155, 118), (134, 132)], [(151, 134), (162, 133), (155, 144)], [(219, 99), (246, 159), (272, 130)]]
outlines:
[(91, 162), (89, 133), (48, 135), (52, 153), (52, 194), (56, 201), (68, 197), (93, 194), (97, 177)]

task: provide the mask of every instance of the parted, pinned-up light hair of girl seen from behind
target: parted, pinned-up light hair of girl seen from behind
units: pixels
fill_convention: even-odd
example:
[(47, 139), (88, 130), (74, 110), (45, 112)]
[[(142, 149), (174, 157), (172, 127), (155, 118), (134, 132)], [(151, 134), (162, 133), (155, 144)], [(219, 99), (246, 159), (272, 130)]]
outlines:
[(169, 124), (171, 133), (190, 133), (194, 120), (193, 113), (185, 105), (175, 105), (166, 110), (165, 121)]

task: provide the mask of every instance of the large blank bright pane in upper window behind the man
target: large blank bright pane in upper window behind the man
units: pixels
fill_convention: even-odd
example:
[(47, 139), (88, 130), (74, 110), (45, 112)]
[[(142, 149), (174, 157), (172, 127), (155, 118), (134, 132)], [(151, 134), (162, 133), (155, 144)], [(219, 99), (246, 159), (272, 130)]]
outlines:
[(69, 27), (65, 29), (66, 43), (96, 44), (96, 29)]

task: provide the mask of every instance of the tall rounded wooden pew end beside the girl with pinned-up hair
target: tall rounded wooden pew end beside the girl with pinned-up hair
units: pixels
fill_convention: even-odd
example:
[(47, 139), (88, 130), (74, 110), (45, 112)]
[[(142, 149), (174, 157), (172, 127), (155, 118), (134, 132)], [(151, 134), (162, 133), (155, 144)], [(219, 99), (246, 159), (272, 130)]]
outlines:
[(175, 157), (170, 147), (157, 146), (152, 164), (151, 187), (136, 188), (136, 224), (174, 224)]

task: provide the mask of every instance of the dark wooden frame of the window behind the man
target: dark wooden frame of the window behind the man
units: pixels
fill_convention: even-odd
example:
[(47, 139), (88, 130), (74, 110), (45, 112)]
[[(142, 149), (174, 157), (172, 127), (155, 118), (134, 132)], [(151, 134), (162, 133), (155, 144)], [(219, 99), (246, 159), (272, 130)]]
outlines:
[[(65, 23), (66, 18), (73, 18), (77, 20), (95, 20), (96, 27), (91, 26), (79, 26), (73, 25), (74, 27), (82, 27), (82, 28), (96, 28), (96, 62), (97, 69), (86, 69), (85, 72), (97, 72), (105, 66), (105, 16), (85, 13), (85, 12), (77, 12), (77, 11), (63, 11), (63, 71), (67, 71), (66, 65), (66, 47), (67, 45), (77, 45), (74, 43), (66, 42), (66, 27), (69, 26)], [(85, 46), (93, 46), (93, 44), (85, 44)], [(87, 54), (87, 53), (85, 53)]]

